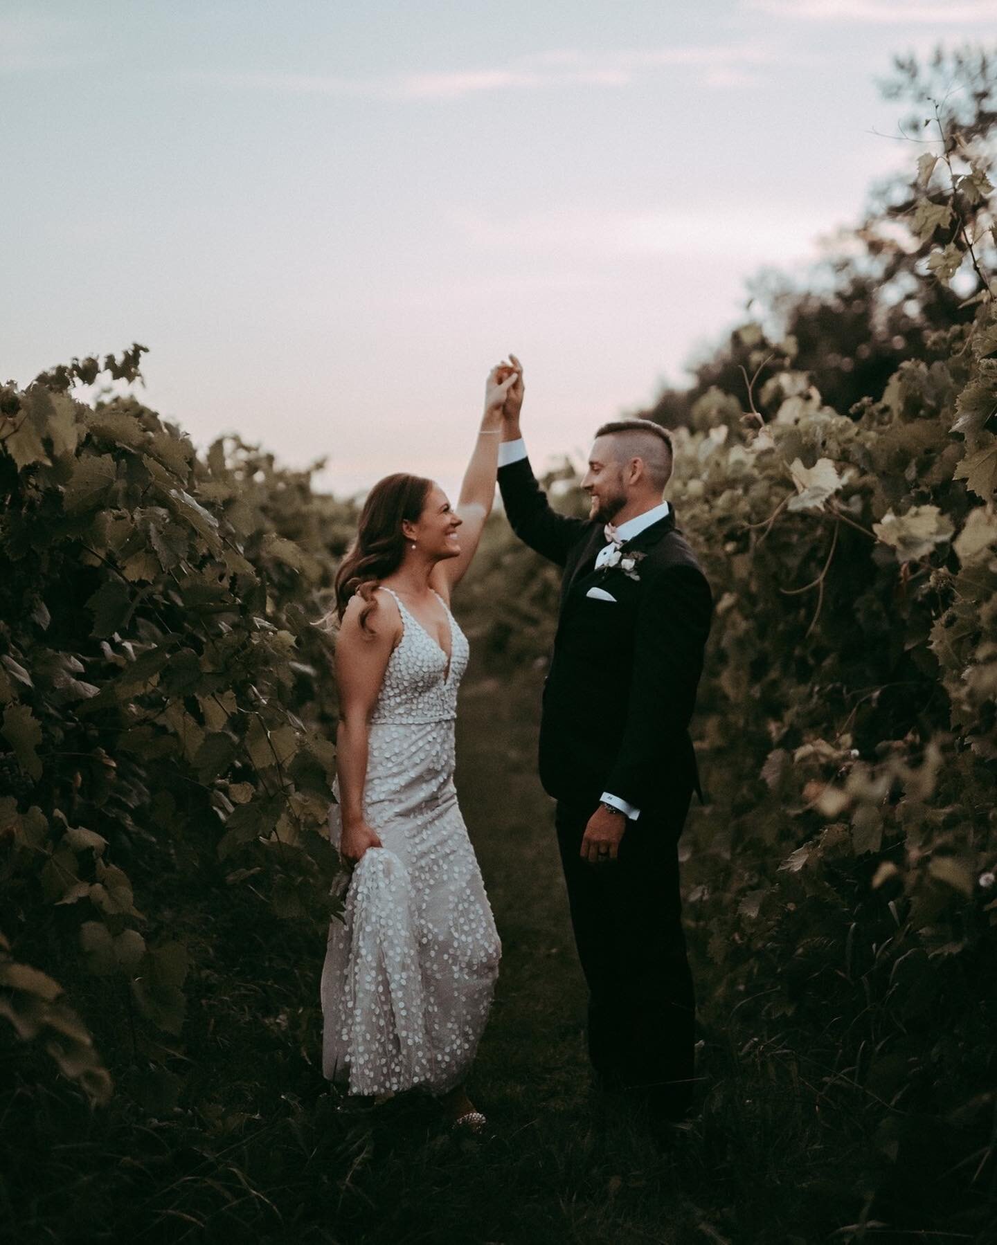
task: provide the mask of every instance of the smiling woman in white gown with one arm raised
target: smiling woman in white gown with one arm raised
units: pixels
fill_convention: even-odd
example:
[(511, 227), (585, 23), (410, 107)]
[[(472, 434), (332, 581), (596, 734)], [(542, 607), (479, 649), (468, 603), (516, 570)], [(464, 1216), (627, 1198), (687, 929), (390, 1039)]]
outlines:
[(340, 723), (333, 839), (353, 865), (322, 974), (323, 1071), (359, 1096), (422, 1086), (481, 1128), (464, 1083), (500, 942), (454, 789), (467, 640), (450, 594), (495, 496), (515, 360), (489, 375), (457, 508), (419, 476), (374, 486), (335, 580)]

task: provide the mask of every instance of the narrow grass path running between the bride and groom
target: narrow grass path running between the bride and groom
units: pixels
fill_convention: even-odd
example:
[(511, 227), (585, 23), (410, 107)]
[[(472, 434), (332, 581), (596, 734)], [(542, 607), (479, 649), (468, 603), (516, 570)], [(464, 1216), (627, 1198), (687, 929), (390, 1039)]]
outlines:
[[(364, 1243), (732, 1240), (684, 1193), (685, 1160), (661, 1157), (627, 1118), (597, 1118), (552, 807), (538, 788), (537, 680), (469, 679), (457, 786), (503, 944), (491, 1022), (471, 1082), (490, 1135), (456, 1143), (415, 1113), (373, 1125), (358, 1216)], [(390, 1112), (386, 1113), (390, 1117)], [(404, 1138), (408, 1139), (404, 1140)], [(375, 1194), (375, 1186), (379, 1190)], [(396, 1201), (381, 1216), (380, 1191)], [(346, 1224), (341, 1225), (346, 1231)]]

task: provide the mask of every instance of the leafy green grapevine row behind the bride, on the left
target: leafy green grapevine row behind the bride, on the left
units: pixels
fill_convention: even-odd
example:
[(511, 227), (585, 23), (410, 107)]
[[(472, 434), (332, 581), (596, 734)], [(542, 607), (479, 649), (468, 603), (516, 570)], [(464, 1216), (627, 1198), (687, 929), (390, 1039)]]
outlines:
[(0, 391), (2, 1011), (97, 1101), (87, 1030), (35, 957), (123, 1006), (133, 1056), (181, 1032), (189, 962), (158, 903), (198, 876), (318, 929), (335, 868), (327, 644), (349, 507), (239, 441), (194, 452), (130, 395), (143, 347)]

